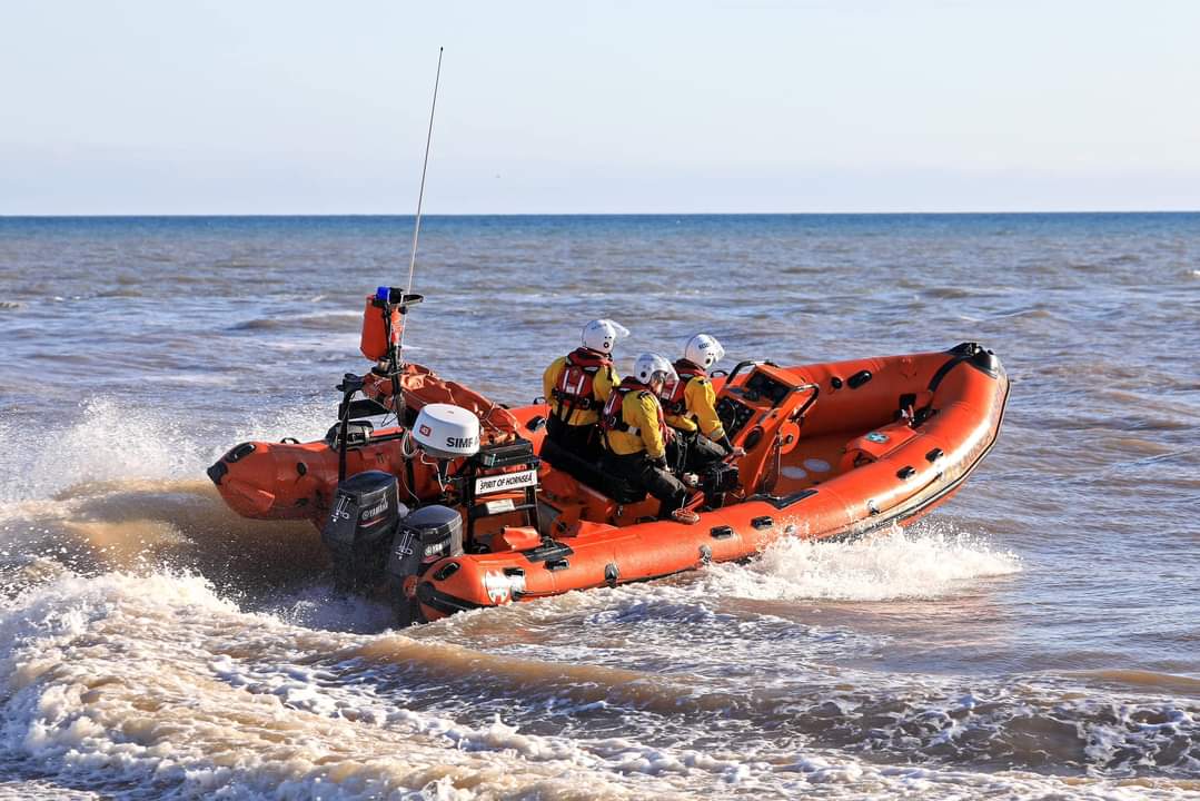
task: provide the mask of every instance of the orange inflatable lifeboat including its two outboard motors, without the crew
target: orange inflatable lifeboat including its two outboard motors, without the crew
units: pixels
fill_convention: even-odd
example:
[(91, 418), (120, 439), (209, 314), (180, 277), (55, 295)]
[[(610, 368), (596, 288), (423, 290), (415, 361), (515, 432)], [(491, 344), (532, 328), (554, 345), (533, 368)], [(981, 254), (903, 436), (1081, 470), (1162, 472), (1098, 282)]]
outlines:
[(792, 367), (746, 361), (714, 385), (746, 455), (704, 477), (689, 502), (694, 525), (656, 520), (654, 498), (544, 442), (544, 405), (509, 410), (512, 438), (480, 435), (469, 456), (427, 459), (404, 428), (352, 426), (341, 441), (244, 443), (209, 474), (242, 514), (312, 518), (342, 584), (383, 581), (402, 620), (433, 620), (740, 560), (780, 537), (907, 525), (962, 486), (1008, 399), (1000, 359), (973, 342)]

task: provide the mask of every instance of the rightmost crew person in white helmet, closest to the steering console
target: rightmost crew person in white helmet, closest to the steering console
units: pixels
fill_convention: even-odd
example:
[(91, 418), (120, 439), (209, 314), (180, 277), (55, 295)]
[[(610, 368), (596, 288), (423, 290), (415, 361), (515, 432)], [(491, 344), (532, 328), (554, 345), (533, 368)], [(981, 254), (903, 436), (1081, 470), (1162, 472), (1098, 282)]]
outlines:
[(678, 377), (662, 390), (666, 422), (677, 435), (667, 448), (667, 459), (677, 472), (701, 473), (730, 454), (745, 455), (730, 442), (716, 416), (716, 393), (708, 370), (724, 357), (725, 348), (715, 336), (696, 334), (684, 346), (683, 358), (674, 363)]

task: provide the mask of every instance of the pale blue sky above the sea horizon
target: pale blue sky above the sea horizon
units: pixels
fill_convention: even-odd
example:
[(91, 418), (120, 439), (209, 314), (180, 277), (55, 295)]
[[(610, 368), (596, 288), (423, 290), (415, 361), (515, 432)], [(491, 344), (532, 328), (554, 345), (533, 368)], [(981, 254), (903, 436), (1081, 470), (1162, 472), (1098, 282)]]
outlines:
[(0, 214), (1200, 209), (1200, 2), (0, 0)]

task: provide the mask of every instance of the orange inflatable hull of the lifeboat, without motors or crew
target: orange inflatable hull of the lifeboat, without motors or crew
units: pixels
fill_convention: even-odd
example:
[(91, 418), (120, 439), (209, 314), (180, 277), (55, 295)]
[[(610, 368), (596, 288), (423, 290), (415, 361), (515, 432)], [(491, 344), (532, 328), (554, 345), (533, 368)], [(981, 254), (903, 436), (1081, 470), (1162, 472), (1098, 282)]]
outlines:
[[(1000, 360), (974, 343), (796, 367), (743, 363), (714, 385), (726, 430), (746, 455), (724, 506), (696, 498), (698, 524), (655, 520), (653, 498), (622, 502), (542, 462), (540, 531), (510, 536), (505, 526), (518, 521), (493, 519), (468, 543), (487, 552), (432, 564), (408, 584), (409, 602), (433, 620), (743, 560), (780, 537), (907, 525), (958, 491), (992, 448), (1009, 389)], [(541, 453), (546, 407), (510, 412), (516, 435)], [(406, 503), (432, 502), (436, 476), (404, 459), (402, 434), (372, 432), (347, 454), (347, 474), (382, 470), (401, 479)], [(320, 525), (337, 452), (325, 442), (244, 443), (210, 476), (241, 514)]]

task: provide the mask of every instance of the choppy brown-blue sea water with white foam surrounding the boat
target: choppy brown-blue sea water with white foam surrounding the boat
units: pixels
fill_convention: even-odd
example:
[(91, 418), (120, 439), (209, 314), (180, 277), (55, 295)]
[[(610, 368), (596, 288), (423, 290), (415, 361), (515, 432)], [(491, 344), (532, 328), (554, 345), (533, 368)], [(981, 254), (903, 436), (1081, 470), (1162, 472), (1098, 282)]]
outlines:
[(316, 438), (406, 217), (0, 219), (0, 797), (1200, 796), (1200, 215), (428, 217), (409, 358), (994, 348), (868, 540), (390, 628), (204, 468)]

